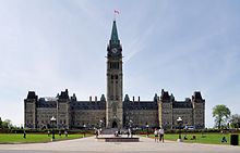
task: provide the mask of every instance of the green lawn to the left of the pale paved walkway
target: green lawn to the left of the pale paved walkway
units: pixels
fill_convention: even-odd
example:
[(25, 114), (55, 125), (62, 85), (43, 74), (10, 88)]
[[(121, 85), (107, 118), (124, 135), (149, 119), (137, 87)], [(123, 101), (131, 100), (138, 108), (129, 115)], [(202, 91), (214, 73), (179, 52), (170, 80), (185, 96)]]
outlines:
[[(83, 138), (83, 135), (56, 135), (56, 140), (68, 140)], [(27, 133), (26, 139), (23, 138), (23, 133), (0, 133), (0, 143), (39, 143), (50, 142), (51, 135), (48, 137), (46, 133)]]

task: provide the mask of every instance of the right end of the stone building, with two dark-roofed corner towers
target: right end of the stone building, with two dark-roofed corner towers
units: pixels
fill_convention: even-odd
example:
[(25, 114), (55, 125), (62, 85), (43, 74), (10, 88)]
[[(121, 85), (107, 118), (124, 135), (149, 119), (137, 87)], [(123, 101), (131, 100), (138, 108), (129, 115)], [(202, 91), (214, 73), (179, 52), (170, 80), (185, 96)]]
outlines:
[(167, 91), (161, 90), (161, 97), (158, 104), (159, 126), (165, 128), (177, 128), (177, 119), (182, 118), (182, 124), (194, 126), (197, 129), (205, 127), (205, 100), (201, 92), (193, 93), (192, 99), (185, 101), (176, 101), (175, 97)]

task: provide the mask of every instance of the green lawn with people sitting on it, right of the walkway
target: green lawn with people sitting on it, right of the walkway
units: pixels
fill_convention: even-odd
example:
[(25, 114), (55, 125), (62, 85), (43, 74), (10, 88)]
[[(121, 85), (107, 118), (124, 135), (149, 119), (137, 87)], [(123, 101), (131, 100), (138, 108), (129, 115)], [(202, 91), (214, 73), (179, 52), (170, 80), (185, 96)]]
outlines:
[[(188, 138), (188, 140), (183, 140), (184, 136)], [(191, 140), (195, 136), (195, 140)], [(227, 143), (223, 143), (221, 139), (223, 137), (227, 138)], [(179, 135), (175, 133), (166, 133), (165, 140), (172, 140), (177, 141)], [(203, 136), (201, 133), (181, 133), (183, 142), (189, 143), (207, 143), (207, 144), (230, 144), (230, 135), (228, 133), (204, 133)], [(154, 138), (154, 135), (151, 135), (151, 138)], [(240, 139), (239, 139), (240, 144)]]

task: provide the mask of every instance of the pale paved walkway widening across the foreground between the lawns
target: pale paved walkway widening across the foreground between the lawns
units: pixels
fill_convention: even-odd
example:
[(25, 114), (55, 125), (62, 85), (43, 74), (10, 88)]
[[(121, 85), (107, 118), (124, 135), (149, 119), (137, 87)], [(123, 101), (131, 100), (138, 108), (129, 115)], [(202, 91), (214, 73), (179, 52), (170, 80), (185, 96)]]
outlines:
[(95, 137), (50, 143), (0, 144), (0, 153), (76, 153), (76, 152), (133, 152), (133, 153), (240, 153), (240, 146), (179, 143), (140, 138), (140, 142), (98, 142)]

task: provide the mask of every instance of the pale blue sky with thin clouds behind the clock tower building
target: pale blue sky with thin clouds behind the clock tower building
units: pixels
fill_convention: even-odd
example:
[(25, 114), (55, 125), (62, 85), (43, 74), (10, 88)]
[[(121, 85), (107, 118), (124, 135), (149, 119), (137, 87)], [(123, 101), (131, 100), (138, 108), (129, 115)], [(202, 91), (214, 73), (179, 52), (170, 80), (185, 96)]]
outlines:
[(123, 46), (123, 91), (177, 100), (201, 91), (212, 109), (240, 107), (238, 0), (0, 0), (0, 116), (23, 124), (27, 91), (79, 100), (106, 93), (113, 10)]

